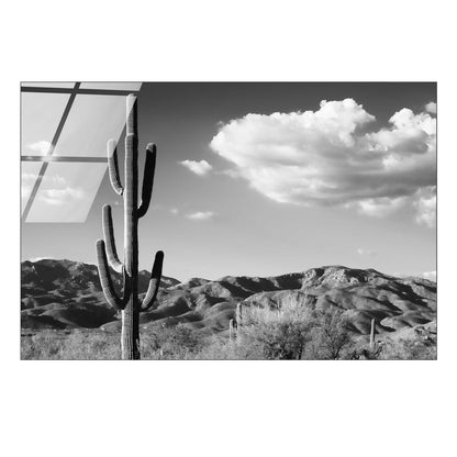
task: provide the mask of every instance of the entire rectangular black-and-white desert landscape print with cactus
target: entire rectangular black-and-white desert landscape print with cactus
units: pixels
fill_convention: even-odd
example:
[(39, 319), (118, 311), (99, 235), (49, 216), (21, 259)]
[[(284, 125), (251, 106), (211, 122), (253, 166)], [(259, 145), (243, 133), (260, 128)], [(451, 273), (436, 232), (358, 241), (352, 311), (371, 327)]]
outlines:
[(436, 359), (436, 82), (22, 82), (21, 357)]

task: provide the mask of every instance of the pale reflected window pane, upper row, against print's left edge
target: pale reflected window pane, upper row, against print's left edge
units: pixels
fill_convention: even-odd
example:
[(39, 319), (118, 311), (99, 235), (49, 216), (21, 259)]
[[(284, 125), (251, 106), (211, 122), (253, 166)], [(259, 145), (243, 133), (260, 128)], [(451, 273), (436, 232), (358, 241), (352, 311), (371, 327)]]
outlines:
[(22, 155), (47, 153), (68, 99), (68, 93), (21, 93)]

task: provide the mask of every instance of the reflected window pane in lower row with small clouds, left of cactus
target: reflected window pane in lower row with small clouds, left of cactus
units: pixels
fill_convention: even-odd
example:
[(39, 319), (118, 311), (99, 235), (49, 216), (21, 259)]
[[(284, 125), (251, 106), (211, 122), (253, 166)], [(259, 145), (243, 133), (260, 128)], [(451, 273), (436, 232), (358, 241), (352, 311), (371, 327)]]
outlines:
[(86, 222), (107, 164), (51, 163), (26, 222)]

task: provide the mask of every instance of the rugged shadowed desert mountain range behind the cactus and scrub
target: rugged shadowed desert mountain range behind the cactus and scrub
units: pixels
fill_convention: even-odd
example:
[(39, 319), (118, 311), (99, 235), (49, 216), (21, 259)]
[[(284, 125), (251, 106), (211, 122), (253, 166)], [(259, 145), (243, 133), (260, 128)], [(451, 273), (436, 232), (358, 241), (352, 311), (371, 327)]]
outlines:
[[(121, 287), (121, 275), (113, 274)], [(145, 293), (149, 272), (140, 272)], [(366, 335), (371, 319), (379, 333), (436, 322), (436, 283), (427, 279), (398, 278), (374, 269), (343, 266), (311, 268), (275, 277), (192, 278), (187, 282), (163, 277), (155, 310), (141, 315), (141, 325), (185, 323), (207, 334), (226, 332), (236, 304), (280, 308), (296, 302), (345, 312), (350, 330)], [(21, 325), (45, 328), (97, 328), (115, 332), (120, 320), (104, 301), (94, 265), (42, 259), (21, 264)]]

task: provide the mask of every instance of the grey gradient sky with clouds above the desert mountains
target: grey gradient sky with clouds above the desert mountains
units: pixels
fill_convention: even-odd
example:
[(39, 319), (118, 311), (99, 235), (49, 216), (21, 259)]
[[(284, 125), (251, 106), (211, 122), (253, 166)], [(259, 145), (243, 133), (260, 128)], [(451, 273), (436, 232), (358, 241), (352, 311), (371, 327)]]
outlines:
[[(22, 153), (40, 155), (57, 121), (33, 96), (34, 109), (23, 100)], [(68, 96), (59, 96), (52, 103), (63, 109)], [(92, 99), (104, 105), (100, 119), (78, 97), (55, 152), (102, 157), (124, 100)], [(87, 135), (70, 127), (83, 123)], [(153, 200), (138, 230), (142, 269), (163, 249), (164, 275), (179, 280), (325, 265), (434, 279), (435, 83), (143, 83), (138, 135), (141, 179), (146, 145), (157, 144)], [(122, 164), (122, 141), (119, 149)], [(36, 163), (22, 165), (26, 197)], [(57, 211), (82, 222), (23, 222), (23, 260), (96, 263), (105, 203), (122, 253), (122, 199), (104, 164), (52, 163), (42, 187), (29, 220)]]

